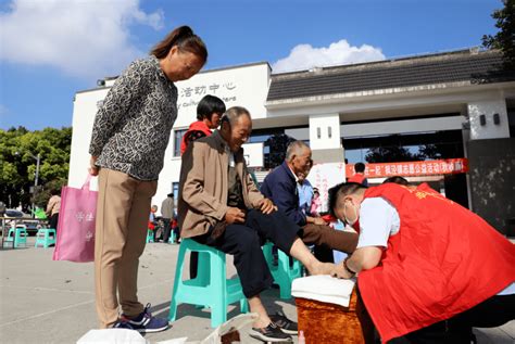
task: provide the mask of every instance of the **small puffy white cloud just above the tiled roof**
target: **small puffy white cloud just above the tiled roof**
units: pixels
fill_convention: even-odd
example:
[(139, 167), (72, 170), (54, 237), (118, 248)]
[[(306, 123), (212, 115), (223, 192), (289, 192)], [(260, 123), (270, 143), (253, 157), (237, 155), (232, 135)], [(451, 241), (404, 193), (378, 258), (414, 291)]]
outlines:
[(272, 68), (274, 73), (281, 73), (378, 60), (385, 60), (380, 48), (368, 44), (351, 47), (346, 39), (342, 39), (328, 48), (299, 44), (291, 50), (288, 58), (274, 63)]

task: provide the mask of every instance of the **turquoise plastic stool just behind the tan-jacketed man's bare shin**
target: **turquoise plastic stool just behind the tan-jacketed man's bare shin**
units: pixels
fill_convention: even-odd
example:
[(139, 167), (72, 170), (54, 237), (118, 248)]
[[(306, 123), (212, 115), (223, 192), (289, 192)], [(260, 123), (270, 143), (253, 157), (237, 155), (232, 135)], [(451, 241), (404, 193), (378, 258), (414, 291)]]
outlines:
[(291, 298), (291, 282), (302, 276), (302, 265), (294, 258), (292, 258), (293, 263), (290, 265), (290, 256), (279, 249), (277, 249), (277, 264), (274, 264), (273, 247), (272, 242), (265, 243), (263, 254), (274, 281), (279, 285), (280, 298), (288, 300)]

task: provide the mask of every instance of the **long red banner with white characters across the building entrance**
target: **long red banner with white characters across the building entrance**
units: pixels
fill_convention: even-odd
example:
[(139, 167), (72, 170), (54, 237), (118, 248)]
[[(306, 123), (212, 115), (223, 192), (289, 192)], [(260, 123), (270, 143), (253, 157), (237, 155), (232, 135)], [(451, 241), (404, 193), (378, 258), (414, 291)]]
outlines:
[[(346, 166), (347, 175), (354, 176), (354, 165)], [(365, 164), (365, 177), (413, 177), (464, 174), (468, 171), (467, 158), (445, 158), (426, 162)]]

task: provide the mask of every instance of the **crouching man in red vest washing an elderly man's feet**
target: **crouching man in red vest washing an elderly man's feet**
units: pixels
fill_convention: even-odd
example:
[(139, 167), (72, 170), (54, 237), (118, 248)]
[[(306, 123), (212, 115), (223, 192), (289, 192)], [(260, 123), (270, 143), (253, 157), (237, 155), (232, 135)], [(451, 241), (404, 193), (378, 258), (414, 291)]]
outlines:
[(338, 276), (357, 273), (384, 343), (468, 344), (514, 319), (515, 245), (476, 214), (427, 184), (346, 183), (329, 203), (360, 233)]

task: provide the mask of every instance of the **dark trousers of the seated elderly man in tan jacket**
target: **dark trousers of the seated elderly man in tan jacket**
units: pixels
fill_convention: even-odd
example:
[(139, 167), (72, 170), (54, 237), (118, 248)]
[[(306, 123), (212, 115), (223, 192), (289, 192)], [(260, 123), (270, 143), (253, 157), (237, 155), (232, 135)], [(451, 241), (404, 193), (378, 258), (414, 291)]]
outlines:
[(212, 230), (191, 239), (235, 256), (243, 294), (249, 298), (271, 288), (273, 282), (261, 246), (269, 240), (289, 254), (299, 230), (300, 227), (280, 212), (265, 215), (251, 209), (247, 213), (244, 224), (228, 225), (217, 239), (211, 237)]

